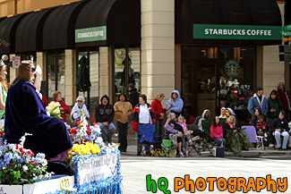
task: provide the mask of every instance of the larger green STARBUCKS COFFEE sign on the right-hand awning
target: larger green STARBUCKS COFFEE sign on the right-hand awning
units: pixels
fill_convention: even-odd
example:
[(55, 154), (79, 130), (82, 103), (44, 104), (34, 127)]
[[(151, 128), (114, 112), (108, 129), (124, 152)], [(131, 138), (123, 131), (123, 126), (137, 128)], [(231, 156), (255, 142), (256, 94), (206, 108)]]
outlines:
[(281, 26), (193, 24), (193, 38), (280, 40)]

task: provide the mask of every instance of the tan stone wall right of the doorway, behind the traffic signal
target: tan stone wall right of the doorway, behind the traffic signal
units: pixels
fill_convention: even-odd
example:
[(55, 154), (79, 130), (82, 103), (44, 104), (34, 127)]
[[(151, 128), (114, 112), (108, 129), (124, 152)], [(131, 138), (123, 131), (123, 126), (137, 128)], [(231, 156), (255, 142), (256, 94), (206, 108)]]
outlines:
[[(284, 4), (278, 4), (282, 21), (284, 21)], [(282, 22), (284, 25), (284, 22)], [(262, 85), (264, 95), (270, 96), (273, 89), (277, 89), (278, 82), (286, 78), (285, 62), (278, 59), (278, 46), (262, 46)]]

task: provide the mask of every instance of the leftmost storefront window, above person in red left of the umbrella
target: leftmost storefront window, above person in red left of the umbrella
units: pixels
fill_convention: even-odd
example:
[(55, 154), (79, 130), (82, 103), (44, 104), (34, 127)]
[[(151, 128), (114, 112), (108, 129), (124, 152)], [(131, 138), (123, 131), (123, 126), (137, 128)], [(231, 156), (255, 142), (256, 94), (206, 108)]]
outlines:
[(47, 88), (48, 101), (56, 90), (64, 97), (64, 51), (47, 52)]

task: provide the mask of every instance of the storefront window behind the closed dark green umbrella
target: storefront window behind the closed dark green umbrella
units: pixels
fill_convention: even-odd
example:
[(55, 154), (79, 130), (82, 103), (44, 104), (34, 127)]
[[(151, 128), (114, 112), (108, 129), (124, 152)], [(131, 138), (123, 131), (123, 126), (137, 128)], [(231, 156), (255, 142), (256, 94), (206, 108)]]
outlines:
[[(99, 54), (98, 48), (86, 47), (80, 48), (78, 52), (78, 61), (82, 56), (89, 59), (88, 71), (90, 75), (90, 91), (77, 91), (77, 96), (85, 97), (86, 105), (90, 110), (94, 110), (95, 106), (99, 104)], [(78, 65), (79, 67), (79, 65)]]

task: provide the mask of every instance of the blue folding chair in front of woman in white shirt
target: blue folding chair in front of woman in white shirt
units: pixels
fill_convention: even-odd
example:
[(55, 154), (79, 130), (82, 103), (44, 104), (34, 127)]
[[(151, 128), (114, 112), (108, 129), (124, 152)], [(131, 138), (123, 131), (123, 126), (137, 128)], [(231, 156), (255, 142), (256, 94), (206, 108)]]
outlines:
[(139, 141), (141, 143), (141, 154), (146, 156), (145, 144), (150, 145), (150, 153), (152, 156), (159, 156), (160, 149), (158, 145), (161, 144), (161, 140), (157, 141), (154, 137), (156, 131), (155, 124), (139, 124)]

